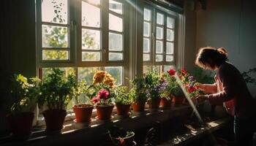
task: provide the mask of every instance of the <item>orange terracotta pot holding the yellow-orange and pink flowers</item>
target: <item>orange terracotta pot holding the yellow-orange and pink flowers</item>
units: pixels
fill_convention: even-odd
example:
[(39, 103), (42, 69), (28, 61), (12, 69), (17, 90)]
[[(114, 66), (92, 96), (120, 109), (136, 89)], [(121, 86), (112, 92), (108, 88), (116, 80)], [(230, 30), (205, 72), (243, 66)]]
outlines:
[(97, 105), (97, 118), (99, 120), (110, 120), (114, 105)]

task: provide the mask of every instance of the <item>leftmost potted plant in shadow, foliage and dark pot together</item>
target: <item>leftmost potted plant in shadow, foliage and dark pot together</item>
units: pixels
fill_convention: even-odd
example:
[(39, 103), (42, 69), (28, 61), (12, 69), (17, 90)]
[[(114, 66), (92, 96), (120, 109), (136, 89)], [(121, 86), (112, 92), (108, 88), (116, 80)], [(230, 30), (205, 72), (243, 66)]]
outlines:
[(14, 74), (11, 79), (10, 97), (12, 105), (7, 120), (12, 137), (18, 140), (29, 139), (34, 119), (35, 96), (37, 95), (38, 78), (31, 78), (29, 84), (26, 77)]

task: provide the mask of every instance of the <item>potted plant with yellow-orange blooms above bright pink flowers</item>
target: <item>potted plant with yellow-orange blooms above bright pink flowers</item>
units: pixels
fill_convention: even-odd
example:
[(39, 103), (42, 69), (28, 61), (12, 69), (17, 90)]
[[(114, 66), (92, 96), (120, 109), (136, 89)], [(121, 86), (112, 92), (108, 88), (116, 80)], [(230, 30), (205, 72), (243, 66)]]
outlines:
[(114, 104), (112, 99), (115, 97), (114, 79), (111, 74), (105, 71), (97, 71), (94, 74), (94, 85), (91, 88), (94, 92), (92, 101), (96, 104), (97, 118), (99, 120), (110, 120)]

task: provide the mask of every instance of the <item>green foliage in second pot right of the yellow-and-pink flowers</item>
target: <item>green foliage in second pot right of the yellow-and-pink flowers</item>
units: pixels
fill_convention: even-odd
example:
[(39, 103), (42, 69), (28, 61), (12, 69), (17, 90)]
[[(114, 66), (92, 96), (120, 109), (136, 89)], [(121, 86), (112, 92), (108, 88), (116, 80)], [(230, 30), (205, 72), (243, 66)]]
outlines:
[(133, 88), (129, 91), (129, 97), (133, 102), (146, 102), (146, 83), (144, 78), (135, 78), (130, 82)]

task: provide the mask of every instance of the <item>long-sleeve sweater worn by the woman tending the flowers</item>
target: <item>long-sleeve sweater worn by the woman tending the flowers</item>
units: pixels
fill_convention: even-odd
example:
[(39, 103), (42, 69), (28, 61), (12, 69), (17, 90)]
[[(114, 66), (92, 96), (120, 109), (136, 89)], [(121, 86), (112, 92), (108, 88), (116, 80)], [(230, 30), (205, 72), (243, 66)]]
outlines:
[(211, 104), (233, 104), (233, 109), (227, 111), (239, 118), (256, 116), (256, 99), (249, 93), (243, 76), (233, 64), (226, 62), (219, 66), (215, 80), (214, 85), (206, 85), (206, 91), (215, 92), (208, 95)]

